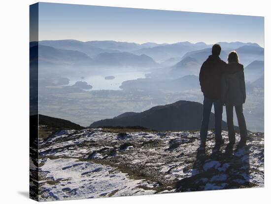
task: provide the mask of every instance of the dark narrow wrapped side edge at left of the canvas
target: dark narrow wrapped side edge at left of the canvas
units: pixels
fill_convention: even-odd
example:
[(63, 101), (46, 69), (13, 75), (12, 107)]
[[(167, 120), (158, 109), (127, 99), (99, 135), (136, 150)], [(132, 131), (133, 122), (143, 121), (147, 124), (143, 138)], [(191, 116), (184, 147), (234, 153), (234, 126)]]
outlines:
[(29, 149), (29, 197), (39, 201), (38, 189), (38, 4), (29, 7), (30, 43), (29, 43), (29, 65), (30, 65), (30, 149)]

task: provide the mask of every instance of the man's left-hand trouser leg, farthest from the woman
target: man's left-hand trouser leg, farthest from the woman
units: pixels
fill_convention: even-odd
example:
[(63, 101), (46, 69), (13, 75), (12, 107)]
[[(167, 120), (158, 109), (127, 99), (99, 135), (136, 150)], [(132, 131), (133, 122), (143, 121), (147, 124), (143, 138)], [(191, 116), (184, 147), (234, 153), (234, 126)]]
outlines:
[(202, 127), (201, 127), (201, 146), (204, 146), (206, 142), (212, 104), (213, 102), (210, 99), (207, 99), (204, 97), (203, 120), (202, 120)]

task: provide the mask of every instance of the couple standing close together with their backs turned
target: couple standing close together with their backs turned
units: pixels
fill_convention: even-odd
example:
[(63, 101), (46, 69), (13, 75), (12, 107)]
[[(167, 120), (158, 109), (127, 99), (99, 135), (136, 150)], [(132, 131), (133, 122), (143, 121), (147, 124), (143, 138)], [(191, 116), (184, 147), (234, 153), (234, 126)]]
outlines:
[(239, 64), (235, 51), (229, 54), (228, 64), (219, 58), (220, 52), (220, 45), (213, 45), (212, 55), (203, 63), (200, 71), (200, 84), (204, 95), (201, 147), (205, 147), (212, 105), (214, 105), (215, 115), (216, 146), (224, 143), (221, 136), (221, 123), (223, 105), (226, 105), (229, 144), (233, 145), (236, 141), (233, 112), (235, 107), (241, 137), (238, 146), (241, 147), (246, 144), (247, 138), (243, 115), (243, 103), (246, 99), (244, 68)]

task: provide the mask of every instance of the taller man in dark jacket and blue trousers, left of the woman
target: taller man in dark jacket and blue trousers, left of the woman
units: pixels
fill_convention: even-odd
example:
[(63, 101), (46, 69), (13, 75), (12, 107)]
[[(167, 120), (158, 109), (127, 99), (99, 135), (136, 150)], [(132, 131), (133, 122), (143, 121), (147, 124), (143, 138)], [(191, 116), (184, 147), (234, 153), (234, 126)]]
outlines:
[(214, 44), (212, 55), (203, 63), (200, 71), (200, 84), (204, 95), (203, 101), (203, 120), (201, 127), (201, 147), (205, 147), (209, 118), (214, 105), (215, 115), (215, 144), (221, 145), (224, 140), (221, 136), (221, 122), (223, 106), (221, 103), (221, 75), (226, 63), (219, 58), (221, 47)]

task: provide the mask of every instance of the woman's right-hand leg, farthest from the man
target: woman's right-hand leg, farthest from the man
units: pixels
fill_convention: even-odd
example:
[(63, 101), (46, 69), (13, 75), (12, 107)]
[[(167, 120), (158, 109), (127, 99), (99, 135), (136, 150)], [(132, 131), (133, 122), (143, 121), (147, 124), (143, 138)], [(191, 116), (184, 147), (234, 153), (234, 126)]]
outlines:
[(237, 120), (238, 120), (238, 126), (240, 129), (240, 144), (245, 145), (246, 143), (246, 138), (247, 138), (247, 130), (246, 130), (246, 124), (245, 124), (245, 117), (243, 114), (243, 105), (236, 105), (235, 106), (235, 111), (237, 115)]

